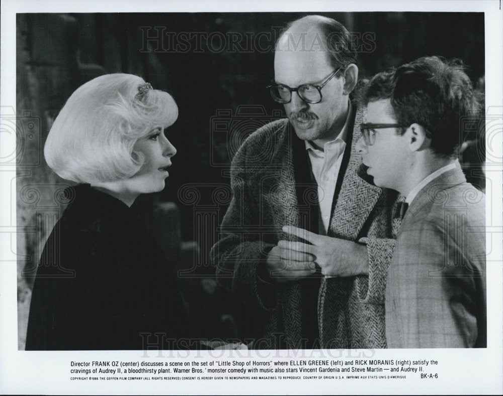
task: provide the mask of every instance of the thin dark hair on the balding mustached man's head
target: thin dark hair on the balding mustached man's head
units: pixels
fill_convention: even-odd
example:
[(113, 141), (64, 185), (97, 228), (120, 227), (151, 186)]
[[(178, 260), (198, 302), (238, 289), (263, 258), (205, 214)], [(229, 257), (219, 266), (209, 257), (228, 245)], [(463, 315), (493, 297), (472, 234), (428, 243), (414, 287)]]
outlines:
[(333, 68), (338, 69), (351, 63), (358, 65), (356, 45), (348, 29), (336, 20), (321, 15), (308, 15), (290, 22), (278, 37), (276, 46), (285, 33), (298, 24), (310, 24), (319, 31), (323, 44), (326, 46), (328, 60)]

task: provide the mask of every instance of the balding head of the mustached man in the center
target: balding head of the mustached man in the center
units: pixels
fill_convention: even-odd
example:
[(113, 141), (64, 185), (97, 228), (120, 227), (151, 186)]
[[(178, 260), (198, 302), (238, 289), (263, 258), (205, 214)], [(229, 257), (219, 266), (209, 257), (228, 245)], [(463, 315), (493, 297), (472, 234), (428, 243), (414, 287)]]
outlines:
[[(349, 94), (358, 80), (349, 37), (340, 23), (309, 16), (291, 23), (276, 44), (276, 87), (291, 93), (290, 100), (282, 102), (285, 111), (297, 136), (320, 148), (341, 132), (348, 116)], [(306, 92), (306, 87), (319, 93), (319, 101), (299, 95), (299, 88)]]

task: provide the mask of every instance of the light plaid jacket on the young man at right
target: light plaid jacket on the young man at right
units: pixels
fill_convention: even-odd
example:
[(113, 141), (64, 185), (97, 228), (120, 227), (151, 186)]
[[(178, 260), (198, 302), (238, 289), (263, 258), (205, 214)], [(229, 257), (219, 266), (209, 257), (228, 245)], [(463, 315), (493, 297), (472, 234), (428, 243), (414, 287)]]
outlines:
[(486, 346), (485, 196), (459, 165), (410, 203), (385, 301), (390, 348)]

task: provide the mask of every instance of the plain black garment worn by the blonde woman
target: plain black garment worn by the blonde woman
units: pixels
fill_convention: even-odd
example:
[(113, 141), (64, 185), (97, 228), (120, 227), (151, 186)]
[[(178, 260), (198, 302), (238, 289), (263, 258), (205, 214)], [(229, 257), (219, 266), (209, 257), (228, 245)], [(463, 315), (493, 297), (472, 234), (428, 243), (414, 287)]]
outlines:
[[(27, 350), (178, 349), (188, 337), (174, 271), (122, 201), (79, 185), (35, 279)], [(159, 333), (154, 335), (154, 333)]]

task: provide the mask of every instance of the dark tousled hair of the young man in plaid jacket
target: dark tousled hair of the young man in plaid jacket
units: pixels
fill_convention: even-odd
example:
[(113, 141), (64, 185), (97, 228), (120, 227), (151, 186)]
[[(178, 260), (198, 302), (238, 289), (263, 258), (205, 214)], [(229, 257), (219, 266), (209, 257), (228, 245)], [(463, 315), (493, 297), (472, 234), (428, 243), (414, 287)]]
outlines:
[[(362, 84), (357, 96), (364, 105), (391, 99), (397, 123), (422, 125), (432, 140), (433, 152), (447, 157), (456, 156), (464, 140), (463, 118), (473, 117), (479, 109), (462, 62), (438, 56), (378, 73)], [(400, 133), (405, 133), (405, 128)]]

